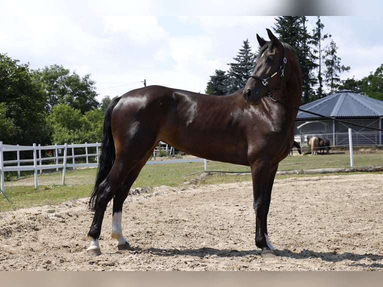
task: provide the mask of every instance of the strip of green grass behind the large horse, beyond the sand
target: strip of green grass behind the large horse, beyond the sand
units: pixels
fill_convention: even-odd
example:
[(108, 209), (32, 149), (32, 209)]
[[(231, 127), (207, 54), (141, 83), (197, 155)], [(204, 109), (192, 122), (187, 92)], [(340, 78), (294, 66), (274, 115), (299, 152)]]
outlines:
[[(381, 165), (383, 165), (383, 153), (381, 152), (354, 154), (354, 167)], [(327, 167), (350, 167), (349, 155), (338, 152), (318, 156), (287, 156), (279, 163), (278, 170)], [(248, 172), (250, 171), (250, 167), (208, 161), (208, 170)], [(209, 176), (201, 176), (201, 174), (197, 173), (201, 171), (203, 171), (203, 162), (147, 164), (142, 168), (132, 188), (155, 187), (159, 185), (181, 186), (184, 181), (193, 181), (198, 184), (217, 184), (251, 180), (250, 174), (238, 175), (213, 172)], [(87, 197), (93, 187), (95, 172), (95, 168), (67, 171), (65, 182), (74, 181), (76, 182), (75, 184), (59, 185), (62, 177), (61, 172), (38, 175), (39, 184), (44, 180), (45, 182), (51, 181), (54, 183), (50, 183), (50, 185), (39, 185), (37, 189), (34, 189), (32, 185), (7, 186), (7, 184), (5, 184), (5, 194), (8, 196), (10, 202), (0, 194), (0, 211), (44, 204), (56, 204), (71, 199)], [(276, 178), (291, 176), (309, 175), (277, 175)]]

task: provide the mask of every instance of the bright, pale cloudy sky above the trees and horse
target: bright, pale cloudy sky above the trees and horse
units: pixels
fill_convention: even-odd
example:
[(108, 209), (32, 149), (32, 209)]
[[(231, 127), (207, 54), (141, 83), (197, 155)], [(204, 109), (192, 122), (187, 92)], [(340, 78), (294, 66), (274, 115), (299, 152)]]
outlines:
[[(320, 15), (341, 64), (350, 66), (342, 79), (361, 79), (383, 64), (382, 1), (316, 2), (0, 0), (0, 53), (31, 69), (58, 64), (90, 74), (99, 101), (141, 87), (144, 79), (204, 92), (245, 39), (256, 51), (256, 34), (267, 39), (275, 15), (289, 14)], [(315, 21), (308, 16), (308, 31)]]

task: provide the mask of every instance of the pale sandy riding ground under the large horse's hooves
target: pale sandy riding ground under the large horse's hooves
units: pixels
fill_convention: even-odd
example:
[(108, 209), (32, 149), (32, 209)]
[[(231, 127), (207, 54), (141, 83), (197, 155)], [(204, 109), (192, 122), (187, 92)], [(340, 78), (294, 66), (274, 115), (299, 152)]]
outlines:
[(254, 245), (251, 183), (161, 186), (128, 196), (123, 230), (133, 250), (109, 237), (85, 250), (86, 198), (0, 213), (0, 270), (383, 270), (383, 174), (276, 180), (268, 232)]

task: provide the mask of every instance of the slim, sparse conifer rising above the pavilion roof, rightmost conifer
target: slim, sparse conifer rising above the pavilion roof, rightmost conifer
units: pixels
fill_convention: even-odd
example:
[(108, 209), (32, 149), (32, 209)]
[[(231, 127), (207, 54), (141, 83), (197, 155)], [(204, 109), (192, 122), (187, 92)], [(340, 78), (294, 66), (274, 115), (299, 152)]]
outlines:
[(340, 65), (341, 58), (336, 55), (337, 46), (333, 40), (329, 43), (324, 53), (324, 64), (326, 71), (324, 73), (325, 82), (330, 88), (330, 93), (335, 92), (340, 86), (340, 72), (348, 71), (349, 66)]

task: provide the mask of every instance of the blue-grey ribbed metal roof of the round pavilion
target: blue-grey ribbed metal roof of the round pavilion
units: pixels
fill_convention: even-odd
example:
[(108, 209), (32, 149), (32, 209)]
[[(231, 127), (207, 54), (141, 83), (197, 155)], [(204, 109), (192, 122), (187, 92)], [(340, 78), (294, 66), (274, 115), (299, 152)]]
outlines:
[[(383, 101), (357, 94), (348, 89), (300, 106), (301, 109), (335, 118), (363, 118), (383, 116)], [(319, 119), (320, 116), (298, 111), (296, 120)]]

